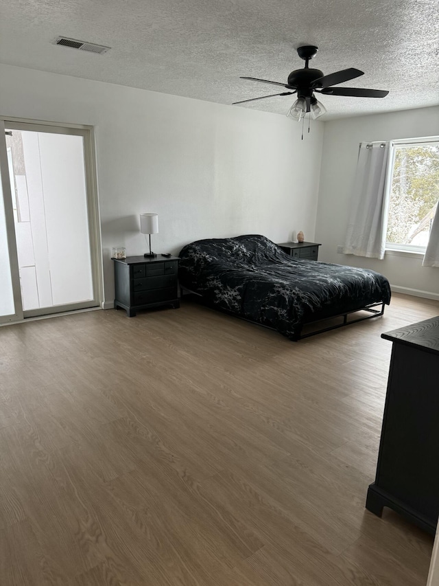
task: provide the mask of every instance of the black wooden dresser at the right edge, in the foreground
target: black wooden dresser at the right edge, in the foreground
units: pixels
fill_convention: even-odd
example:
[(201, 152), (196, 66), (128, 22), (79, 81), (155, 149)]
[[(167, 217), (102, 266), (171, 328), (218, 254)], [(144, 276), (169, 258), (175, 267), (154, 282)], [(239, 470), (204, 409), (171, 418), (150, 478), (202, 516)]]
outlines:
[(393, 343), (375, 482), (388, 506), (434, 534), (439, 514), (439, 316), (381, 335)]

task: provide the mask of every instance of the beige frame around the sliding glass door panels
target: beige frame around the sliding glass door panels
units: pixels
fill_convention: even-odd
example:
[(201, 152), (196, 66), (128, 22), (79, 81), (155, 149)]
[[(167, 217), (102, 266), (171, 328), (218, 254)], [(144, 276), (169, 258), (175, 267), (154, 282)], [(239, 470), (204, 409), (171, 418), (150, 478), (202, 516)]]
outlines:
[[(97, 198), (97, 172), (96, 172), (96, 150), (95, 150), (95, 133), (93, 126), (86, 126), (84, 124), (64, 124), (63, 122), (47, 122), (45, 120), (27, 120), (24, 118), (17, 118), (12, 116), (0, 116), (1, 127), (3, 127), (2, 138), (0, 139), (0, 153), (4, 151), (3, 157), (0, 157), (0, 171), (3, 184), (3, 192), (7, 190), (7, 200), (5, 207), (8, 207), (8, 216), (6, 221), (8, 223), (8, 243), (12, 242), (10, 247), (11, 265), (13, 265), (12, 282), (14, 289), (14, 302), (16, 302), (16, 294), (18, 293), (18, 304), (16, 305), (16, 315), (11, 319), (2, 319), (1, 322), (15, 322), (21, 321), (26, 317), (36, 317), (38, 315), (52, 315), (56, 313), (65, 313), (66, 311), (73, 311), (75, 309), (102, 307), (104, 300), (104, 276), (102, 269), (102, 239), (101, 226), (99, 221), (99, 202)], [(0, 127), (0, 128), (1, 128)], [(9, 185), (8, 174), (8, 157), (6, 152), (5, 128), (11, 128), (21, 131), (45, 132), (64, 135), (82, 136), (84, 144), (84, 171), (86, 181), (86, 206), (88, 213), (88, 238), (91, 249), (91, 271), (93, 282), (93, 301), (79, 302), (76, 304), (66, 304), (62, 306), (55, 306), (51, 308), (37, 308), (23, 311), (21, 302), (21, 290), (19, 282), (19, 263), (16, 251), (14, 216), (12, 212), (12, 194)], [(5, 185), (8, 183), (8, 185)], [(4, 196), (3, 196), (4, 198)], [(12, 218), (12, 223), (11, 223)], [(11, 245), (10, 245), (11, 246)], [(13, 254), (11, 254), (11, 251)], [(14, 258), (12, 258), (14, 256)], [(18, 291), (17, 291), (18, 286)], [(21, 311), (18, 312), (17, 309)], [(9, 317), (9, 316), (8, 316)]]

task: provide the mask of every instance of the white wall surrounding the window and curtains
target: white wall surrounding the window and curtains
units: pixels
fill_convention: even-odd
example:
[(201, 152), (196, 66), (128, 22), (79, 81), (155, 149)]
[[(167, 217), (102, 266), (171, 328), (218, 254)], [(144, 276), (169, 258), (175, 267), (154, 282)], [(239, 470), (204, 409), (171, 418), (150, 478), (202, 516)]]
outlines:
[(388, 254), (384, 260), (337, 254), (344, 243), (359, 143), (439, 135), (439, 107), (326, 122), (320, 175), (316, 239), (319, 260), (352, 264), (383, 273), (394, 290), (439, 298), (439, 269), (422, 267), (422, 257)]

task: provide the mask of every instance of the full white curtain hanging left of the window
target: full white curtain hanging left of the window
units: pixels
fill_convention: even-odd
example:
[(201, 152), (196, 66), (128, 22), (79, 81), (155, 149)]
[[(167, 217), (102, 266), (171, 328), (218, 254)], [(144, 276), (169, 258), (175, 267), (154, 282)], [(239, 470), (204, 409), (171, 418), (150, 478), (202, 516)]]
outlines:
[(359, 146), (345, 254), (384, 258), (393, 151), (390, 142), (362, 142)]

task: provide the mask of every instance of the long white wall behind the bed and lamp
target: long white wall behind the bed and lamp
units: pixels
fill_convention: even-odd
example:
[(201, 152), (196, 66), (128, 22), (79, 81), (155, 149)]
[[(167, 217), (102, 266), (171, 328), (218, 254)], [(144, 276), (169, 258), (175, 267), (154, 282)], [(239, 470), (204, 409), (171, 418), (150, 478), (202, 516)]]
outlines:
[(249, 233), (284, 242), (300, 229), (313, 240), (321, 122), (301, 141), (284, 116), (9, 65), (0, 115), (95, 126), (107, 302), (111, 248), (146, 250), (141, 212), (158, 214), (158, 252)]

